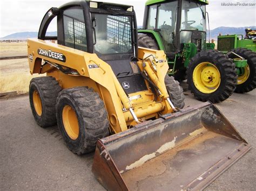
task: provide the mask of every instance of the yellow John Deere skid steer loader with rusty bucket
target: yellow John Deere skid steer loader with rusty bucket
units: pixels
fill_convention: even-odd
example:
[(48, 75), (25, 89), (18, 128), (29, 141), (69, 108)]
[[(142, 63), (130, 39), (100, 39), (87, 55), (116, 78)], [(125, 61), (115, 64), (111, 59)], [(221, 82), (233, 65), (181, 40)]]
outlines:
[[(57, 36), (46, 36), (55, 17)], [(181, 109), (164, 52), (138, 48), (132, 6), (51, 8), (28, 54), (30, 73), (46, 73), (30, 82), (36, 122), (57, 122), (73, 153), (96, 149), (92, 172), (106, 189), (203, 188), (251, 148), (213, 104)]]

